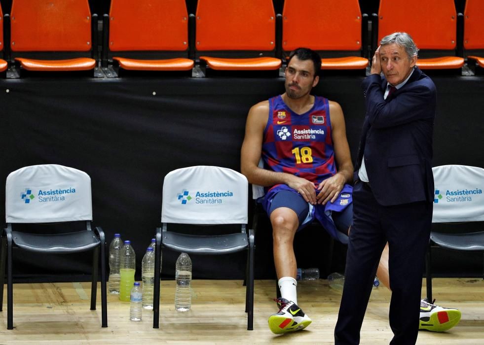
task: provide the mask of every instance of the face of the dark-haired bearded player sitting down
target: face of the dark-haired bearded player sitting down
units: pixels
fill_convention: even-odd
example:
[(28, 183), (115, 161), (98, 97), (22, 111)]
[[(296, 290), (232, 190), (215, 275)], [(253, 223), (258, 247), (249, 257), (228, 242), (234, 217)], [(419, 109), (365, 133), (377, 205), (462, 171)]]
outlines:
[(292, 99), (306, 96), (319, 81), (319, 76), (314, 75), (312, 60), (299, 60), (297, 56), (289, 62), (285, 75), (286, 94)]

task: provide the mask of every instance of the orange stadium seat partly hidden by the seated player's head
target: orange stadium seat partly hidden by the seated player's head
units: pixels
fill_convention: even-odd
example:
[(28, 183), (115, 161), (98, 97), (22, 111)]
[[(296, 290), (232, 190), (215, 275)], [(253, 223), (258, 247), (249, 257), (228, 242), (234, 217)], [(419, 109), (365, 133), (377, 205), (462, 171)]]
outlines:
[[(317, 20), (308, 20), (308, 16)], [(362, 14), (358, 0), (285, 0), (282, 17), (285, 52), (298, 47), (316, 50), (323, 56), (321, 69), (368, 66), (368, 59), (362, 57)]]

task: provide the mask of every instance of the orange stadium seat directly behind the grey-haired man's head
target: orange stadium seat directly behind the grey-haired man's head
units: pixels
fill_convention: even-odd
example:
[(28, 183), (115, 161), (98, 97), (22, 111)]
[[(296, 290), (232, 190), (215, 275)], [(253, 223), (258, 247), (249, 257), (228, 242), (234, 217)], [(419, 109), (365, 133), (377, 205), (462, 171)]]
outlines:
[(461, 69), (464, 59), (456, 56), (457, 13), (453, 0), (408, 0), (395, 10), (395, 1), (380, 0), (378, 39), (385, 35), (407, 32), (420, 49), (420, 69)]

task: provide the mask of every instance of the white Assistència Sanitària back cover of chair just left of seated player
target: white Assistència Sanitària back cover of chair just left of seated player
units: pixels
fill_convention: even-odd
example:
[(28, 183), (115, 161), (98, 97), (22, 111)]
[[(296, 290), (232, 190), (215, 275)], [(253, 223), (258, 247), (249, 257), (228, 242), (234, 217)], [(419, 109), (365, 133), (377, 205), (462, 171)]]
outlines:
[(181, 168), (163, 181), (162, 223), (247, 224), (247, 208), (247, 178), (228, 168)]

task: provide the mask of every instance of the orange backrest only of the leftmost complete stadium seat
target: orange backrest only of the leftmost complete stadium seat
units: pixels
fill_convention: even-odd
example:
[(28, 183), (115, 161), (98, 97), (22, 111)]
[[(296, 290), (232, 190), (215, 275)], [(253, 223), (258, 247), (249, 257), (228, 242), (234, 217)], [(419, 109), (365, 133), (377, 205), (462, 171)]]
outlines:
[(87, 0), (13, 0), (10, 18), (13, 52), (91, 50)]

